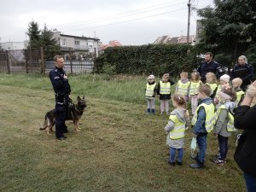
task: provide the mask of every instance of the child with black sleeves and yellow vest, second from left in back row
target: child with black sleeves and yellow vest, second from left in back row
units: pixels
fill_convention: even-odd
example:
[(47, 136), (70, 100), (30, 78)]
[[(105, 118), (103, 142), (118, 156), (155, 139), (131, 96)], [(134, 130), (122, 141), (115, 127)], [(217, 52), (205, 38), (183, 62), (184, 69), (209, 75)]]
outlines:
[(157, 95), (160, 96), (160, 114), (169, 113), (169, 100), (171, 99), (171, 85), (175, 84), (170, 80), (169, 73), (165, 73), (157, 85)]

